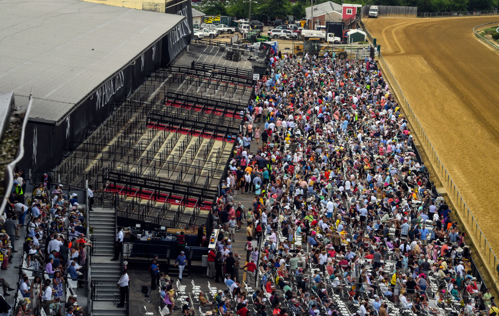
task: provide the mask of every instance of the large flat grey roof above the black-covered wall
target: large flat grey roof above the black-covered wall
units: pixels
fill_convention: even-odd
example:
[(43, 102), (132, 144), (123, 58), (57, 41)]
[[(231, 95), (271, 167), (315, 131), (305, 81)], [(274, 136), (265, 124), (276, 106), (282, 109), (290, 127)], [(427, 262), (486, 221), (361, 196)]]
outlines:
[(0, 2), (0, 91), (57, 122), (184, 17), (80, 0)]

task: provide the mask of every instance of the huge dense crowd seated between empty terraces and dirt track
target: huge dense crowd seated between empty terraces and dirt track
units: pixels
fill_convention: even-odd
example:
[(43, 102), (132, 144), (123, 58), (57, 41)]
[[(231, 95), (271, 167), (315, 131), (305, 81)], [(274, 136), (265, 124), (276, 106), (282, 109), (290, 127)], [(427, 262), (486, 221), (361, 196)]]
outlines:
[[(212, 212), (229, 235), (210, 276), (227, 273), (239, 297), (230, 247), (246, 229), (239, 267), (257, 280), (257, 314), (496, 312), (376, 61), (279, 53), (269, 65)], [(254, 195), (252, 206), (236, 204), (236, 191)]]

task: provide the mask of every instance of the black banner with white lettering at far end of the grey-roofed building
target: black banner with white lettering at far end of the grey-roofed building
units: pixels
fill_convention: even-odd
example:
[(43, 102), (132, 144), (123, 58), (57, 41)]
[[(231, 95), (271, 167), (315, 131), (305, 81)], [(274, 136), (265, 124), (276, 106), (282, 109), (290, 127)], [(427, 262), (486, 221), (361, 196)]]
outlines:
[[(175, 3), (177, 2), (177, 3)], [(187, 18), (184, 19), (180, 24), (178, 24), (167, 36), (168, 42), (163, 42), (168, 48), (168, 56), (164, 56), (166, 59), (162, 60), (162, 65), (167, 65), (182, 52), (182, 50), (189, 45), (191, 39), (193, 38), (193, 28), (192, 28), (192, 8), (191, 1), (167, 1), (166, 13), (183, 15)]]

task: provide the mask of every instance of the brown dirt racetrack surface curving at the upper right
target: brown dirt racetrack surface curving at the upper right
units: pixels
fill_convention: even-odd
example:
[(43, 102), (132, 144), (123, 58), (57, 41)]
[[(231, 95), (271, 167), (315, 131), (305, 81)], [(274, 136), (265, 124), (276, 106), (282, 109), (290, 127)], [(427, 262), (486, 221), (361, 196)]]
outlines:
[(494, 21), (499, 16), (364, 19), (499, 255), (499, 53), (473, 34), (473, 27)]

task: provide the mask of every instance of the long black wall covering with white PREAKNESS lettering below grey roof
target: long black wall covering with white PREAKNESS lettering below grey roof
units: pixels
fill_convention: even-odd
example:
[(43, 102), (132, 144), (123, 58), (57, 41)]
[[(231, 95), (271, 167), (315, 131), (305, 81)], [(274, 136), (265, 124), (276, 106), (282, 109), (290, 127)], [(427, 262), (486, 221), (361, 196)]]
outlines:
[[(144, 76), (155, 71), (156, 65), (169, 55), (168, 49), (164, 49), (167, 37), (165, 35), (152, 44), (122, 70), (101, 83), (57, 124), (29, 120), (24, 138), (25, 154), (18, 166), (26, 171), (32, 169), (34, 174), (55, 168), (70, 149), (77, 147), (109, 116), (114, 102), (129, 97), (144, 82)], [(36, 106), (36, 98), (33, 106)]]

